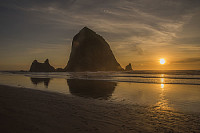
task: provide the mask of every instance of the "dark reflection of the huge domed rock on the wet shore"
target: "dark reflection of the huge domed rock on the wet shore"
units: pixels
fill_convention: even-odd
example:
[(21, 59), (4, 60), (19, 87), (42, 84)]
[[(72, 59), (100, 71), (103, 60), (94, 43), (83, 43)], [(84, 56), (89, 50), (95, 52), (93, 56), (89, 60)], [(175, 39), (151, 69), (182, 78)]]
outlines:
[(117, 83), (109, 81), (80, 79), (68, 79), (67, 83), (72, 95), (95, 99), (108, 99), (117, 85)]

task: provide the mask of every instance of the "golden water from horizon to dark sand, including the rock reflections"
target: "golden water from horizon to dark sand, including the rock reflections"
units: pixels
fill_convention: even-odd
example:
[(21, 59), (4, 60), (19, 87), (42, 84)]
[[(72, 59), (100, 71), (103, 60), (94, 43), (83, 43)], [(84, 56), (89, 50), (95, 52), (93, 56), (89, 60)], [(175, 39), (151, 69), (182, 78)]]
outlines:
[(0, 84), (83, 99), (200, 112), (200, 70), (0, 72)]

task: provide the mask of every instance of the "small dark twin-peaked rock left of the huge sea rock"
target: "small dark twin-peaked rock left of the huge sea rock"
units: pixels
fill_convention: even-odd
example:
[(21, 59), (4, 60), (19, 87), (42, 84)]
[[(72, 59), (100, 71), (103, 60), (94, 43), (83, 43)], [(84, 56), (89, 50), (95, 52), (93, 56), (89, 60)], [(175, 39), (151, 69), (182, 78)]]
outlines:
[(30, 72), (54, 72), (55, 68), (49, 64), (49, 60), (46, 59), (44, 63), (40, 63), (37, 60), (34, 60)]

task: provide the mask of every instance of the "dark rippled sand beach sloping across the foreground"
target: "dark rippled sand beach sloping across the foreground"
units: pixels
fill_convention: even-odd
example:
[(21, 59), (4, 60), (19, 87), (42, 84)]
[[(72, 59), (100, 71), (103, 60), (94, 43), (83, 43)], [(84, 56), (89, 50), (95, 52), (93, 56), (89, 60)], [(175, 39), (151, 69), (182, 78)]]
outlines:
[(200, 132), (200, 114), (1, 85), (0, 132)]

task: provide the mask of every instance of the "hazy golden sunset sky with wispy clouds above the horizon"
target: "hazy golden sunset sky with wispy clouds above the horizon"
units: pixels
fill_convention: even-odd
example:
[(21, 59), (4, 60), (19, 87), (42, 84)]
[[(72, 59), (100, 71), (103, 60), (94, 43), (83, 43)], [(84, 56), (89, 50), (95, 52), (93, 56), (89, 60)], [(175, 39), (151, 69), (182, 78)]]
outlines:
[(84, 26), (122, 67), (200, 70), (200, 0), (0, 0), (0, 70), (64, 68)]

